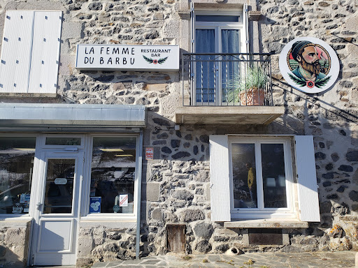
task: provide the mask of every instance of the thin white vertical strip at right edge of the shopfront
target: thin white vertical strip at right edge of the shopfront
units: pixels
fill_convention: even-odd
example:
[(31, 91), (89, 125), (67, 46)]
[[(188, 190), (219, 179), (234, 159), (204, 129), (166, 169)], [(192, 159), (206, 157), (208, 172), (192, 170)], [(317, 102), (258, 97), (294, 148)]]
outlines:
[(143, 131), (138, 138), (138, 166), (136, 170), (137, 184), (137, 224), (136, 224), (136, 259), (139, 260), (139, 248), (141, 244), (141, 190), (142, 190), (142, 156), (143, 156)]

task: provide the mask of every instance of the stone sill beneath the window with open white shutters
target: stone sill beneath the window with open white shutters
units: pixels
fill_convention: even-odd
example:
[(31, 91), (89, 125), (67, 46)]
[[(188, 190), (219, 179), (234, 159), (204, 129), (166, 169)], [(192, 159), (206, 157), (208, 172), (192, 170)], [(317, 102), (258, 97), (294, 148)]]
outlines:
[(225, 228), (308, 228), (308, 222), (294, 218), (235, 219), (224, 223)]

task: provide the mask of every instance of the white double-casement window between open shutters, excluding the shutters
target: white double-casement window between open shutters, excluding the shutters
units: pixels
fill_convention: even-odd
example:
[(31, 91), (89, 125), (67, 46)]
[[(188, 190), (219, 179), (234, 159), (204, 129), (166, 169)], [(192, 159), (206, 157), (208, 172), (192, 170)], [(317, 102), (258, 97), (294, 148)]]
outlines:
[(289, 138), (230, 137), (231, 218), (296, 218)]

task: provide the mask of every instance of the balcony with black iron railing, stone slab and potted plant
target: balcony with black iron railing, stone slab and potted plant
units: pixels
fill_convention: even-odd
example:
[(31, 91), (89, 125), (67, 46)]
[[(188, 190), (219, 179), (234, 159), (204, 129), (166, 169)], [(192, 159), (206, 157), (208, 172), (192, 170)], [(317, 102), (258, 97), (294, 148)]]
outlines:
[(270, 124), (275, 106), (271, 54), (182, 54), (182, 103), (176, 124)]

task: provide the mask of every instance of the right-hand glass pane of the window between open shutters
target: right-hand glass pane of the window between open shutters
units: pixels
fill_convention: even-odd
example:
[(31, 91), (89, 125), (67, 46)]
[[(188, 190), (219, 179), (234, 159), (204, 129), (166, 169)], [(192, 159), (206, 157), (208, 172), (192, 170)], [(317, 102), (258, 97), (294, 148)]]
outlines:
[(287, 207), (283, 144), (261, 144), (264, 207)]

